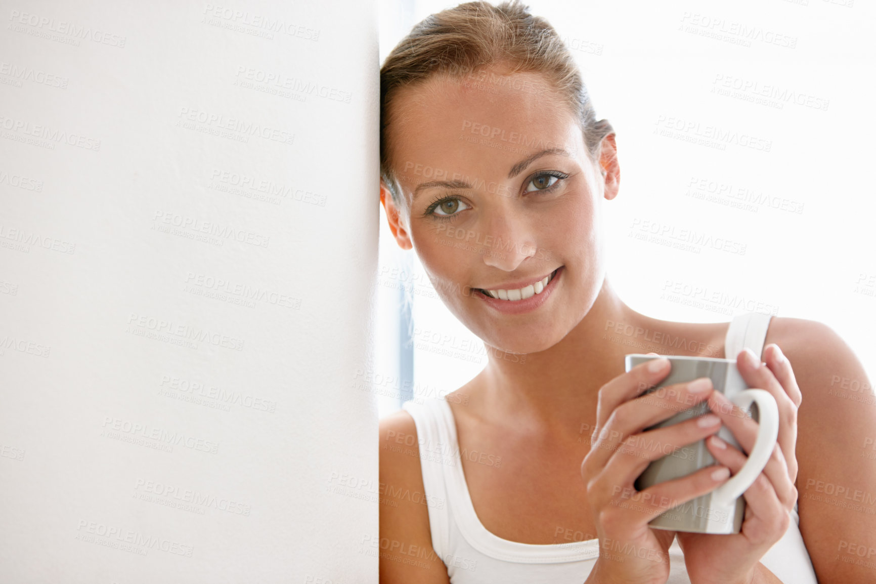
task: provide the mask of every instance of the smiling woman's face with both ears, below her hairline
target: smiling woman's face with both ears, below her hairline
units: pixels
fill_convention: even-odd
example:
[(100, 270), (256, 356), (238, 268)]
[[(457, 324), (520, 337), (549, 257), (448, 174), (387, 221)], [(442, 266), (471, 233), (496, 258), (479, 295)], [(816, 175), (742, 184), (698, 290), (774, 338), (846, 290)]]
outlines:
[[(541, 75), (492, 79), (434, 76), (399, 91), (390, 132), (401, 209), (382, 192), (399, 245), (413, 246), (449, 310), (487, 345), (535, 353), (597, 298), (601, 200), (617, 193), (618, 173), (590, 160)], [(603, 150), (611, 158), (613, 136)]]

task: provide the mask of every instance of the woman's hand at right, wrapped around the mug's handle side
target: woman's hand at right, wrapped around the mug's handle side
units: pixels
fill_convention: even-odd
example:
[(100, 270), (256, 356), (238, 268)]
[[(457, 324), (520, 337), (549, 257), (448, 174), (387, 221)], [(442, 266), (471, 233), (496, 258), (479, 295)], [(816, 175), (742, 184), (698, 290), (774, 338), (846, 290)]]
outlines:
[[(737, 367), (750, 388), (766, 389), (779, 406), (779, 438), (767, 466), (745, 491), (745, 518), (738, 534), (714, 535), (678, 533), (684, 562), (692, 584), (737, 584), (757, 582), (759, 560), (788, 530), (788, 512), (797, 502), (797, 408), (802, 395), (791, 365), (777, 345), (769, 345), (767, 364), (749, 350), (737, 356)], [(709, 407), (745, 452), (751, 452), (757, 438), (758, 424), (745, 412), (715, 391)], [(724, 440), (706, 440), (717, 462), (737, 473), (745, 464), (745, 454)], [(775, 580), (773, 580), (775, 581)]]

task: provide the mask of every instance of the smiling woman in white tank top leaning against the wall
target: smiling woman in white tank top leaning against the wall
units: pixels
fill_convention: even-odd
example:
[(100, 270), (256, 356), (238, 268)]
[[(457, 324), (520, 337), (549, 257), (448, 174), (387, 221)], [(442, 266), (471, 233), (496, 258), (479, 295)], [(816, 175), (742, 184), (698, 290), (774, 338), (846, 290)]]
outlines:
[[(858, 458), (876, 417), (832, 390), (869, 386), (863, 367), (816, 322), (675, 323), (618, 298), (602, 234), (620, 182), (615, 135), (547, 22), (516, 2), (423, 20), (381, 69), (380, 144), (395, 239), (416, 249), (442, 301), (489, 349), (484, 370), (446, 400), (381, 420), (381, 582), (876, 578), (876, 471)], [(747, 342), (754, 352), (725, 354), (744, 320), (761, 327)], [(625, 373), (635, 351), (616, 330), (684, 339), (664, 354), (735, 358), (750, 387), (776, 398), (778, 444), (745, 491), (740, 533), (652, 530), (665, 508), (623, 504), (664, 454), (637, 451), (637, 438), (709, 438), (716, 465), (643, 492), (687, 502), (745, 461), (712, 436), (721, 424), (744, 449), (756, 424), (710, 385), (682, 384), (686, 403), (714, 413), (646, 431), (675, 413), (640, 395), (668, 364)], [(456, 448), (467, 454), (445, 456)]]

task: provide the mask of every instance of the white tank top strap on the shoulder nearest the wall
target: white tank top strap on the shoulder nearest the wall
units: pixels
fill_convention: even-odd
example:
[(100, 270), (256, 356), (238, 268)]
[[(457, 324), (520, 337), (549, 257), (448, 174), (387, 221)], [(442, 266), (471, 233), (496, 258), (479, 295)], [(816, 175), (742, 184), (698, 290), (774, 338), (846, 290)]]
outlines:
[(421, 403), (405, 402), (401, 407), (413, 417), (413, 424), (417, 428), (423, 495), (427, 502), (432, 547), (443, 559), (450, 552), (449, 501), (444, 474), (446, 463), (453, 464), (453, 459), (446, 454), (452, 446), (441, 406), (439, 400), (427, 399)]

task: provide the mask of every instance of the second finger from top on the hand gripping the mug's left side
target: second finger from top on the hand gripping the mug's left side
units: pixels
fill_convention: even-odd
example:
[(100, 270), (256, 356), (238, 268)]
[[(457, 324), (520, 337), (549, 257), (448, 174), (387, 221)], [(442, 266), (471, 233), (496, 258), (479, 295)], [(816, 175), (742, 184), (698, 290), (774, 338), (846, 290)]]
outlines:
[[(707, 400), (712, 392), (711, 380), (703, 377), (658, 388), (650, 394), (621, 403), (611, 412), (608, 421), (593, 432), (588, 453), (591, 463), (597, 467), (604, 466), (611, 458), (611, 453), (626, 438), (680, 411), (690, 410), (697, 403)], [(692, 413), (691, 417), (694, 415)]]

